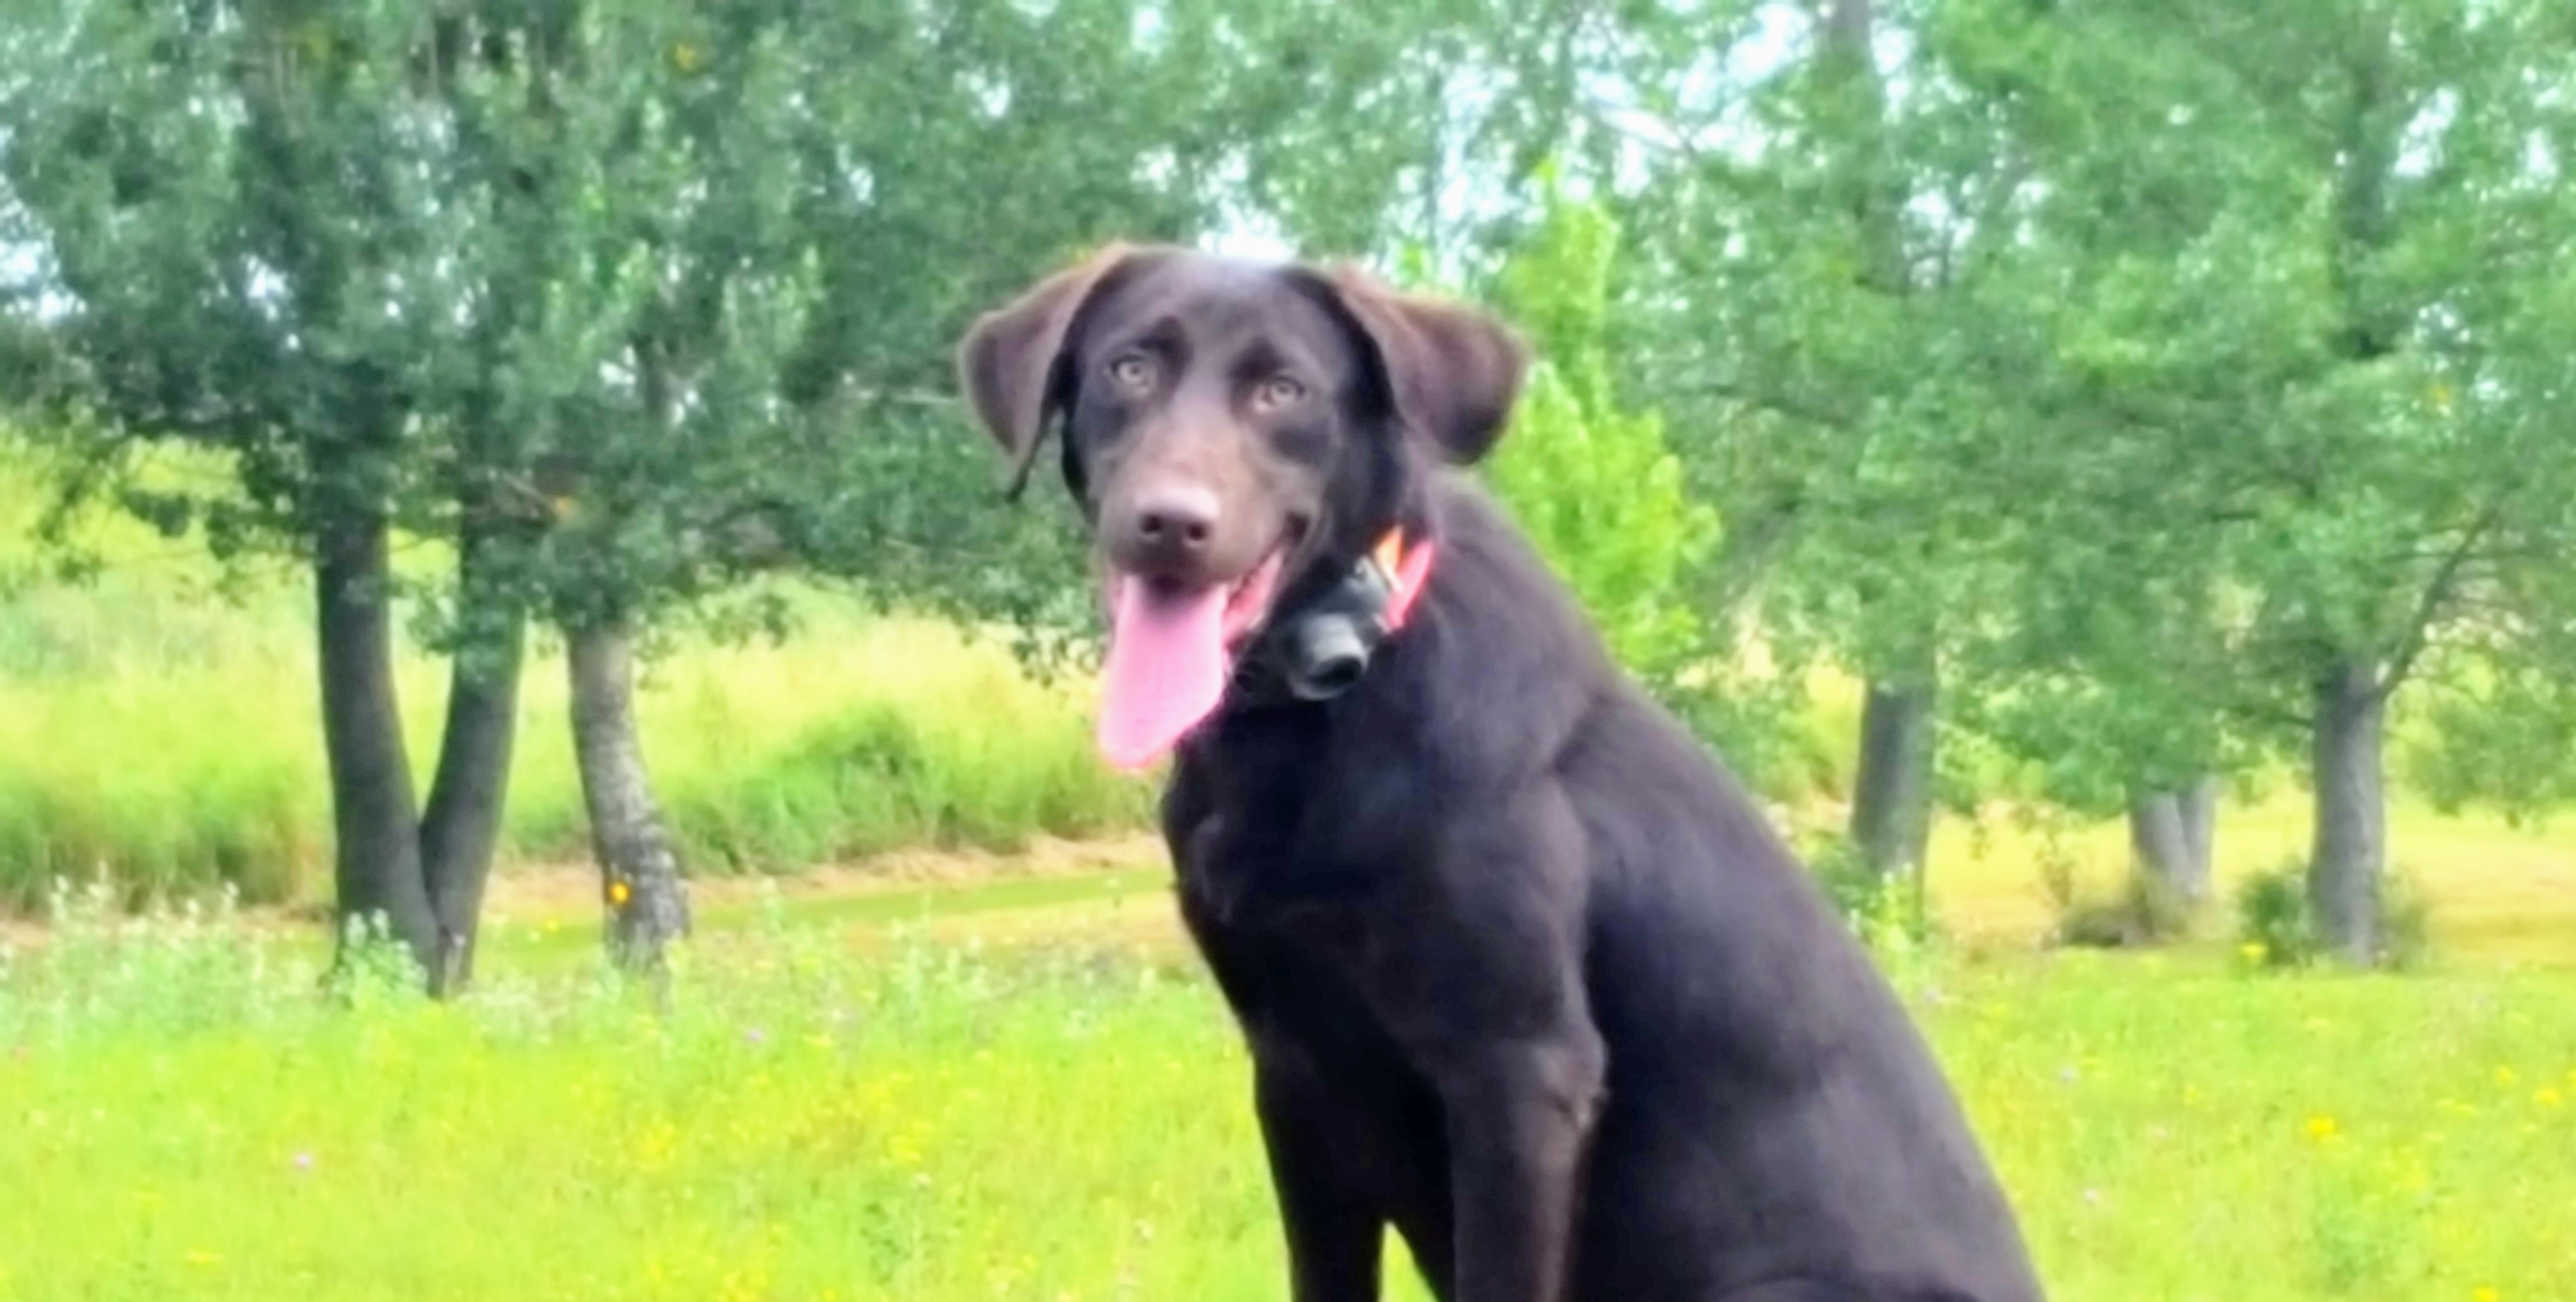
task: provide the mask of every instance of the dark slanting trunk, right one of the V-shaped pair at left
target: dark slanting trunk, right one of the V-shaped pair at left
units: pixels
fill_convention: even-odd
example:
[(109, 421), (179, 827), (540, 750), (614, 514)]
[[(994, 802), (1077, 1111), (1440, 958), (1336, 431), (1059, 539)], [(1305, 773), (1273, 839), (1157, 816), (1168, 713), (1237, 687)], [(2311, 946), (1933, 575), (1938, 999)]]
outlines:
[(420, 817), (420, 871), (438, 920), (433, 995), (461, 990), (474, 975), (474, 928), (510, 794), (528, 616), (492, 572), (497, 547), (500, 539), (469, 529), (456, 562), (459, 616), (466, 627), (448, 678), (438, 773)]

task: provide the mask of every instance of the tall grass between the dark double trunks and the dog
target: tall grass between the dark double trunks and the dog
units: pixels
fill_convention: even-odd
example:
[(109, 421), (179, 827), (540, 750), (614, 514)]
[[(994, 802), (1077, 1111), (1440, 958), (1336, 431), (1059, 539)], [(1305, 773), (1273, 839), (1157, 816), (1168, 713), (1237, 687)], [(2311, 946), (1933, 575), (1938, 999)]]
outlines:
[[(536, 668), (513, 781), (520, 856), (587, 853), (562, 670)], [(696, 871), (791, 871), (904, 846), (1018, 848), (1139, 828), (1151, 789), (1092, 758), (1077, 683), (999, 639), (809, 614), (788, 642), (701, 645), (647, 670), (639, 717)]]

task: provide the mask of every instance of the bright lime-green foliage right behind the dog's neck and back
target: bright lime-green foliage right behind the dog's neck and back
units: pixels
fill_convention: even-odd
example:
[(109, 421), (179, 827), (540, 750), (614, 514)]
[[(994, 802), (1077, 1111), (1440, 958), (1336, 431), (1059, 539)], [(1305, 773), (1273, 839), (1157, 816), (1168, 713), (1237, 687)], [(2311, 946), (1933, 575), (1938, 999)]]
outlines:
[(1499, 273), (1540, 361), (1486, 474), (1582, 598), (1610, 652), (1651, 683), (1708, 650), (1692, 580), (1718, 521), (1682, 482), (1654, 413), (1620, 410), (1607, 358), (1618, 227), (1561, 193)]

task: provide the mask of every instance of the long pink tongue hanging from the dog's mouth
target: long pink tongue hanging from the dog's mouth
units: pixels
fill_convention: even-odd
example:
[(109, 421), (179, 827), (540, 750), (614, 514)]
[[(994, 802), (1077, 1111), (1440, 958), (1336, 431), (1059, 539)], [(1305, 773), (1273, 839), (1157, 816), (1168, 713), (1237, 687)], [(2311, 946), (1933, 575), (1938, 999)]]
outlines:
[(1157, 593), (1118, 575), (1100, 753), (1136, 771), (1198, 727), (1226, 694), (1226, 590)]

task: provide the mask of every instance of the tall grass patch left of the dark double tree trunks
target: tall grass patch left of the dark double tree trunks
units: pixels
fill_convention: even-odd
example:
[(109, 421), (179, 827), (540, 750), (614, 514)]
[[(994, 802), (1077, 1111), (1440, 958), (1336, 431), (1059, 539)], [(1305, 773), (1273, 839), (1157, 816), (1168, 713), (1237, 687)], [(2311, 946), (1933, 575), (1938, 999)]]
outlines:
[(204, 559), (111, 539), (124, 562), (85, 583), (0, 547), (0, 908), (100, 871), (129, 897), (296, 895), (327, 853), (296, 593), (219, 596)]

